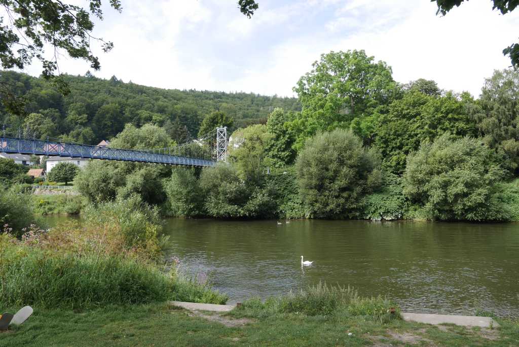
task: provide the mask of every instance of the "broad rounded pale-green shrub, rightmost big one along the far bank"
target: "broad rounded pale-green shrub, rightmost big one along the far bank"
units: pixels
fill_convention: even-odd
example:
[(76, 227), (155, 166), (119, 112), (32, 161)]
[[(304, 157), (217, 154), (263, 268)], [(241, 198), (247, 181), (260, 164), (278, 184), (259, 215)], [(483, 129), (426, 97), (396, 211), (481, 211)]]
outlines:
[(507, 220), (496, 185), (505, 173), (481, 140), (445, 134), (408, 156), (403, 192), (429, 219)]

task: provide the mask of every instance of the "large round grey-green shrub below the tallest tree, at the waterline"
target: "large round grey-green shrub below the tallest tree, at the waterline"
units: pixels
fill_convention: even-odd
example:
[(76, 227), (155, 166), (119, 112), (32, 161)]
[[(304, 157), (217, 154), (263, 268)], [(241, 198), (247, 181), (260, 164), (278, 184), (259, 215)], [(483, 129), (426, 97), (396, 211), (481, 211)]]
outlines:
[(362, 197), (381, 181), (379, 155), (349, 130), (318, 134), (296, 162), (303, 202), (317, 218), (357, 217)]

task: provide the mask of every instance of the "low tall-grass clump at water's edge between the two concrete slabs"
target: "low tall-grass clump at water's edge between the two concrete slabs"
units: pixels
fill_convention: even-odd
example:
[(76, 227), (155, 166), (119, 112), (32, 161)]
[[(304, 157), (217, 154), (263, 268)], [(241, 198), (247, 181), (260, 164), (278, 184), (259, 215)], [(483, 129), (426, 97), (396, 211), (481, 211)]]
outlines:
[(258, 298), (247, 300), (236, 313), (257, 318), (276, 314), (363, 316), (380, 323), (387, 323), (400, 316), (397, 305), (388, 298), (362, 298), (351, 287), (327, 286), (324, 283), (291, 291), (285, 296), (271, 297), (264, 302)]

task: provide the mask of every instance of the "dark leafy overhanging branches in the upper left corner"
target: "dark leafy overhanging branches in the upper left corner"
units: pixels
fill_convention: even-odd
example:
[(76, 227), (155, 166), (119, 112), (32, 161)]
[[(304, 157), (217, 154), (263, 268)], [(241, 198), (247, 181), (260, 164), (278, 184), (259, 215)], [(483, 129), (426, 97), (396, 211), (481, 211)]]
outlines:
[[(43, 65), (42, 75), (56, 77), (59, 50), (65, 50), (72, 58), (85, 59), (94, 70), (99, 70), (99, 58), (90, 48), (91, 41), (101, 42), (104, 52), (114, 44), (94, 37), (91, 16), (103, 19), (101, 0), (88, 1), (89, 8), (53, 0), (1, 0), (0, 6), (7, 15), (0, 17), (0, 63), (3, 69), (24, 69), (34, 58)], [(122, 7), (119, 0), (110, 0), (117, 11)], [(50, 45), (53, 52), (45, 52)], [(55, 79), (60, 91), (67, 92), (63, 79)], [(23, 112), (23, 100), (17, 99), (9, 85), (0, 83), (0, 99), (14, 113)]]

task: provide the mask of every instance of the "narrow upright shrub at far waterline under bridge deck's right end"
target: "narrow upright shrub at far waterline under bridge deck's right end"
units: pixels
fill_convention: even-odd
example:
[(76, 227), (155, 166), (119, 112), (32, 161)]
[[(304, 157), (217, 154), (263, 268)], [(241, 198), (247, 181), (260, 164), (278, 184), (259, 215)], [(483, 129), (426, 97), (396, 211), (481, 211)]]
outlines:
[(173, 216), (197, 217), (204, 215), (203, 195), (194, 169), (176, 168), (164, 182), (169, 208)]

